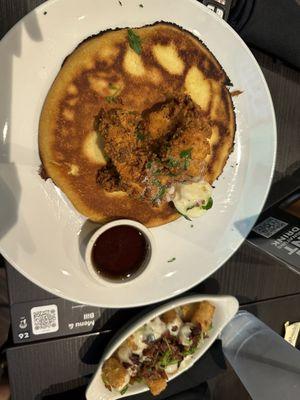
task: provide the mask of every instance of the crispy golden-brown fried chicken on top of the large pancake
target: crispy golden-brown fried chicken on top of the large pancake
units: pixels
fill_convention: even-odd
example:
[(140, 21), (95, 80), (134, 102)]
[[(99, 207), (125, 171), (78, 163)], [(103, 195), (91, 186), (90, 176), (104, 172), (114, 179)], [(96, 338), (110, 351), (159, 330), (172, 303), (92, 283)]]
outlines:
[(167, 99), (138, 114), (102, 109), (96, 129), (110, 163), (98, 172), (108, 191), (159, 205), (176, 183), (200, 179), (210, 153), (211, 126), (189, 96)]

